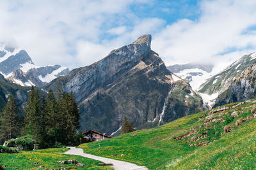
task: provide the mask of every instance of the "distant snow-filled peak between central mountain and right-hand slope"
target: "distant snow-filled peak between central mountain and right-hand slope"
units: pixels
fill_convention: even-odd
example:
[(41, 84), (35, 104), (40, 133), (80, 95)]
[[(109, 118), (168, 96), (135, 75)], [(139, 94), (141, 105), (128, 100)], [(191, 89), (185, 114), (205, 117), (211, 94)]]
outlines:
[(212, 76), (211, 64), (175, 64), (167, 68), (177, 74), (183, 80), (186, 80), (193, 90), (198, 90), (200, 85)]

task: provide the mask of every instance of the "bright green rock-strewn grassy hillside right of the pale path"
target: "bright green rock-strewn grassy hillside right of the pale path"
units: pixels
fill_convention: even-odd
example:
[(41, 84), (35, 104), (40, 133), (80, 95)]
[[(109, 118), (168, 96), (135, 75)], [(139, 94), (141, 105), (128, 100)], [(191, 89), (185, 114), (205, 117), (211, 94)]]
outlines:
[(253, 100), (227, 104), (136, 131), (136, 136), (130, 133), (80, 147), (149, 169), (255, 169), (255, 107)]

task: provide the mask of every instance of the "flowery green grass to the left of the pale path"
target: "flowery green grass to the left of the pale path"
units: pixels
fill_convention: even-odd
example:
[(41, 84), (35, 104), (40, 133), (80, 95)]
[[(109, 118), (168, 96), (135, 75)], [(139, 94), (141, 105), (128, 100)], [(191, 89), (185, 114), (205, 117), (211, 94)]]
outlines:
[[(30, 152), (21, 151), (19, 153), (0, 153), (0, 164), (8, 169), (38, 169), (40, 165), (44, 165), (45, 169), (50, 168), (72, 168), (75, 169), (113, 169), (112, 167), (97, 166), (100, 161), (87, 159), (85, 157), (75, 155), (63, 155), (60, 153), (66, 152), (65, 148), (50, 148), (45, 150), (36, 150)], [(77, 167), (72, 164), (61, 164), (59, 160), (76, 159), (78, 162), (84, 164), (84, 167)], [(39, 164), (35, 164), (38, 162)]]

